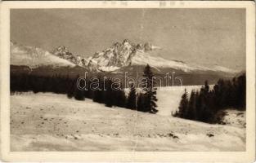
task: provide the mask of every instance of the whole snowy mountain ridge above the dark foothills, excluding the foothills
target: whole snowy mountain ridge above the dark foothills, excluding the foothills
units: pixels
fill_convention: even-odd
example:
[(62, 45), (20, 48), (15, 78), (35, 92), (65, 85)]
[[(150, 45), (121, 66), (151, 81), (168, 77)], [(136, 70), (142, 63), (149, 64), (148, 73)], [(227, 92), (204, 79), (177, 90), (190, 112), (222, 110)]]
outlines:
[(146, 64), (150, 64), (152, 68), (155, 68), (159, 72), (161, 72), (163, 68), (171, 68), (182, 70), (185, 73), (195, 71), (237, 73), (235, 70), (219, 65), (215, 65), (213, 68), (191, 66), (180, 60), (164, 59), (152, 55), (154, 51), (159, 51), (160, 49), (159, 46), (153, 46), (149, 42), (135, 44), (128, 39), (124, 39), (121, 43), (115, 42), (109, 48), (85, 58), (80, 55), (72, 54), (65, 46), (58, 46), (51, 53), (38, 47), (21, 46), (20, 44), (11, 42), (11, 64), (29, 65), (31, 68), (39, 67), (44, 64), (50, 64), (53, 68), (56, 66), (79, 66), (87, 68), (94, 73), (115, 73), (125, 67), (136, 65), (145, 66)]

